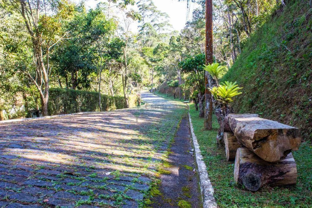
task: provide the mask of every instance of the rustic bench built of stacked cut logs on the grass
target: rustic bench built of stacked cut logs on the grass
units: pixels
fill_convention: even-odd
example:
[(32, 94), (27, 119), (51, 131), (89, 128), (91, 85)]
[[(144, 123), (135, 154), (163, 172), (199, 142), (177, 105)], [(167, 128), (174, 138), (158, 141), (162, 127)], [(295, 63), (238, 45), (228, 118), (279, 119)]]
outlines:
[(234, 179), (250, 191), (264, 185), (296, 184), (297, 168), (291, 151), (301, 143), (298, 128), (258, 117), (230, 114), (224, 141), (227, 160), (235, 155)]

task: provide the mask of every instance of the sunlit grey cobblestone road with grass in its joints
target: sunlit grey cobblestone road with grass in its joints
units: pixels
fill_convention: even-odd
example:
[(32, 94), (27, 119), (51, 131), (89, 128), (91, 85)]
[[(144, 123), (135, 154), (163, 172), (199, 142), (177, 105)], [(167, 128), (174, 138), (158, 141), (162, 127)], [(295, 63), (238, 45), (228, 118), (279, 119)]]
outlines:
[(0, 207), (138, 207), (186, 109), (142, 97), (140, 108), (0, 123)]

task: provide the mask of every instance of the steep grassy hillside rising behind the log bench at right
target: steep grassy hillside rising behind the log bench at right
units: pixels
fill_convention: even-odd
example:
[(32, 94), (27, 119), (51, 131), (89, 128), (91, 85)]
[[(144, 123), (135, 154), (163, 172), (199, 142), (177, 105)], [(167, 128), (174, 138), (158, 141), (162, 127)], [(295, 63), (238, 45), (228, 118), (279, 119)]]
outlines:
[(243, 95), (237, 113), (257, 113), (301, 129), (312, 139), (312, 9), (291, 0), (246, 43), (222, 81), (236, 81)]

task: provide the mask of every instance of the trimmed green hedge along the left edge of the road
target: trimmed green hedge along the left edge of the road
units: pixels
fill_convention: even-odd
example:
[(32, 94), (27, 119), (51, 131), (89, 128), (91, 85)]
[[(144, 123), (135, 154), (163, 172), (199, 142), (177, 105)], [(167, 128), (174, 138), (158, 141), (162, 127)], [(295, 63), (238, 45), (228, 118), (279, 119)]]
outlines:
[[(124, 97), (101, 95), (102, 111), (125, 108)], [(129, 96), (129, 107), (137, 105), (135, 95)], [(49, 115), (60, 115), (79, 112), (100, 111), (99, 93), (51, 88), (49, 91)]]

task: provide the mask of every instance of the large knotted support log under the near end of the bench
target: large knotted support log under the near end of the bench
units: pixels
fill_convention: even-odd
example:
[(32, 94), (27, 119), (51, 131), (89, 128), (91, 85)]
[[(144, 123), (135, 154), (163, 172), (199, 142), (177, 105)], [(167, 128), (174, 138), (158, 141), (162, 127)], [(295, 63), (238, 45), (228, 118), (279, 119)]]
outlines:
[(234, 180), (250, 191), (257, 191), (266, 184), (294, 185), (297, 181), (297, 167), (291, 152), (283, 160), (270, 163), (241, 147), (236, 152)]

